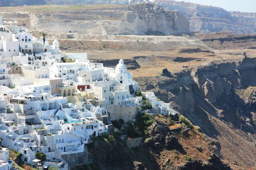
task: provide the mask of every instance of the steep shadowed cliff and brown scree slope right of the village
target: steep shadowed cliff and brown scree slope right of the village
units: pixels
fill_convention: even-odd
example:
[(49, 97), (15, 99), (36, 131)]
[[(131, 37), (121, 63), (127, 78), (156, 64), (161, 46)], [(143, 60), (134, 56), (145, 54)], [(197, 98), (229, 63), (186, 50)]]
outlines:
[(215, 154), (229, 161), (232, 169), (248, 169), (256, 161), (255, 68), (255, 58), (219, 60), (137, 81), (218, 140)]

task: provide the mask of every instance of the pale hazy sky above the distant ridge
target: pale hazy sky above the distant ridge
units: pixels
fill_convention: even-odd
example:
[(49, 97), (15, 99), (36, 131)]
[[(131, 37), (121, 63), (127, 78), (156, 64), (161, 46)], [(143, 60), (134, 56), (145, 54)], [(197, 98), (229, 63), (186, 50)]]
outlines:
[(256, 0), (177, 0), (224, 8), (227, 11), (256, 12)]

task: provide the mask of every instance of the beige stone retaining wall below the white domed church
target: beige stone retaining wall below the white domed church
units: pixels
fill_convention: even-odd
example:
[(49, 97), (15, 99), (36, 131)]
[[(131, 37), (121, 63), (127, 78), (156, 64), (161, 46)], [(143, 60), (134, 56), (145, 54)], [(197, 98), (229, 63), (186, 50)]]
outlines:
[(123, 105), (106, 105), (107, 111), (111, 113), (112, 120), (124, 119), (125, 122), (135, 119), (138, 111), (137, 107), (126, 107)]

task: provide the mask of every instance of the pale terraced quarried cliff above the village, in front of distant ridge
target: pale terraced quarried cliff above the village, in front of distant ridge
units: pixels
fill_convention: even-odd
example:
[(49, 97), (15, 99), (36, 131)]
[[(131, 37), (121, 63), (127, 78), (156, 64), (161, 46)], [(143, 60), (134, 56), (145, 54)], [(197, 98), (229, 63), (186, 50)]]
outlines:
[[(16, 13), (1, 8), (4, 20), (17, 20), (30, 29), (82, 34), (187, 34), (189, 22), (179, 11), (164, 11), (155, 4), (130, 6), (19, 7)], [(7, 10), (7, 11), (5, 11)], [(17, 19), (16, 19), (17, 18)]]

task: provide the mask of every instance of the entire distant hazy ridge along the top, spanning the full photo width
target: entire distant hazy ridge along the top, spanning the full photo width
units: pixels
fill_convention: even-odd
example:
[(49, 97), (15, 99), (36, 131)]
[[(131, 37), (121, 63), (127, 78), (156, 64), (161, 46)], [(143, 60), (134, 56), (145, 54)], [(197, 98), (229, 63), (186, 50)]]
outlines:
[(195, 3), (177, 2), (173, 0), (0, 0), (2, 6), (23, 5), (87, 5), (87, 4), (138, 4), (155, 3), (166, 10), (178, 10), (190, 22), (192, 32), (230, 31), (236, 34), (255, 34), (255, 13), (229, 12), (223, 8), (203, 6)]

